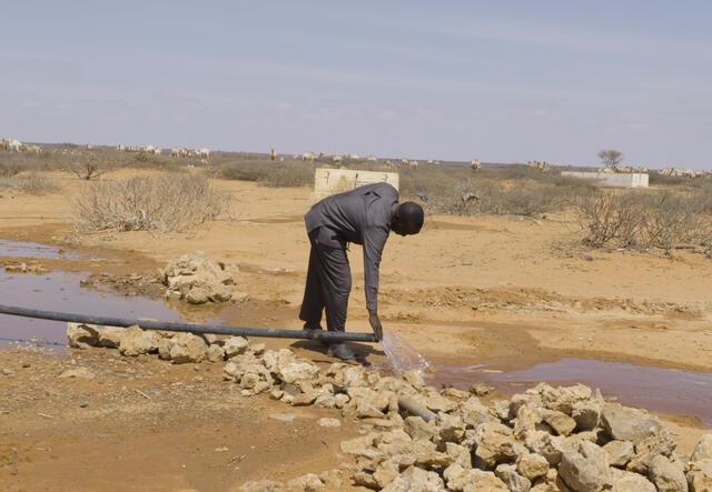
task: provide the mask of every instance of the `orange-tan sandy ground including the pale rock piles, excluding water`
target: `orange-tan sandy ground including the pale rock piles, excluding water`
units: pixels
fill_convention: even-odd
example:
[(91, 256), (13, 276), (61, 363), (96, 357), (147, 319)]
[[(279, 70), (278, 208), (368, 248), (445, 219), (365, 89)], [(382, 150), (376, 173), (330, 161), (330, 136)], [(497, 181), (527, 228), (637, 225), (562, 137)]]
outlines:
[[(86, 183), (62, 183), (60, 193), (3, 202), (0, 238), (72, 252), (0, 258), (16, 274), (87, 272), (85, 287), (162, 298), (191, 321), (219, 312), (229, 324), (300, 328), (309, 190), (217, 182), (238, 198), (228, 221), (164, 237), (77, 237), (67, 197)], [(394, 238), (385, 252), (385, 329), (439, 365), (506, 371), (577, 357), (712, 371), (708, 259), (576, 241), (563, 215), (428, 217), (422, 234)], [(184, 261), (195, 251), (206, 252), (198, 262), (218, 260), (197, 282)], [(360, 254), (349, 254), (348, 330), (368, 331)], [(699, 420), (621, 408), (581, 385), (485, 394), (335, 363), (310, 342), (72, 330), (67, 354), (0, 350), (0, 483), (9, 490), (709, 486)], [(377, 348), (359, 349), (383, 362)], [(404, 398), (435, 419), (404, 410)]]

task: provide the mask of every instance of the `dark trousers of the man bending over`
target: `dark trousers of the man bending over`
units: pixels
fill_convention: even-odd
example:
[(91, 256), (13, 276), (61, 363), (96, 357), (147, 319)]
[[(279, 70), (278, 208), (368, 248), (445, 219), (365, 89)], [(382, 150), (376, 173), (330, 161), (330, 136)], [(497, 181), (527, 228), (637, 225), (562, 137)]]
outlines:
[(309, 233), (312, 250), (299, 319), (309, 323), (322, 321), (326, 311), (328, 331), (344, 331), (352, 270), (346, 255), (346, 241), (327, 228)]

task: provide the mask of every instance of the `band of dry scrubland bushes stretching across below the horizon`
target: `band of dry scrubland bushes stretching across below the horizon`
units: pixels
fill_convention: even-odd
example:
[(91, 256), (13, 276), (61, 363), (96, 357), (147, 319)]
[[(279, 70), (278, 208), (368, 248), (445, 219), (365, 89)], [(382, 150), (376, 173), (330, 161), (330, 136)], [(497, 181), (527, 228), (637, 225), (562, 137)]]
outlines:
[[(525, 164), (485, 164), (472, 172), (463, 163), (393, 169), (385, 160), (344, 161), (348, 169), (397, 171), (403, 199), (423, 204), (428, 213), (477, 213), (543, 217), (567, 212), (582, 229), (582, 242), (592, 248), (662, 249), (701, 247), (712, 251), (712, 179), (650, 175), (647, 190), (597, 188)], [(393, 162), (397, 160), (393, 159)], [(198, 172), (186, 173), (186, 167)], [(73, 201), (81, 231), (180, 231), (224, 214), (229, 197), (208, 179), (253, 181), (264, 187), (312, 187), (314, 170), (336, 165), (328, 159), (303, 161), (247, 152), (212, 152), (210, 162), (177, 159), (110, 148), (44, 145), (42, 153), (0, 153), (0, 188), (33, 194), (55, 192), (58, 185), (42, 171), (63, 170), (89, 181)], [(160, 177), (125, 181), (103, 179), (122, 168), (166, 171)]]

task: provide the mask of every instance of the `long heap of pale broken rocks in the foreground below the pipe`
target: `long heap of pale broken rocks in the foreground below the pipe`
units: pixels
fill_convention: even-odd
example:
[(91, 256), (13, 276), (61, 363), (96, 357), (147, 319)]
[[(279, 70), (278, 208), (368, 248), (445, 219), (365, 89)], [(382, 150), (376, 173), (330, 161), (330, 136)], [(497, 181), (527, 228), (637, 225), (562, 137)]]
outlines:
[[(691, 455), (676, 453), (656, 418), (581, 384), (541, 383), (510, 400), (485, 401), (482, 385), (438, 390), (417, 371), (395, 378), (340, 362), (319, 368), (291, 350), (265, 350), (240, 337), (72, 324), (68, 334), (75, 347), (117, 347), (126, 355), (225, 359), (224, 378), (244, 395), (336, 409), (362, 423), (360, 436), (340, 443), (355, 464), (243, 490), (339, 490), (345, 483), (386, 491), (712, 490), (712, 434)], [(406, 410), (415, 405), (426, 409), (423, 416)]]

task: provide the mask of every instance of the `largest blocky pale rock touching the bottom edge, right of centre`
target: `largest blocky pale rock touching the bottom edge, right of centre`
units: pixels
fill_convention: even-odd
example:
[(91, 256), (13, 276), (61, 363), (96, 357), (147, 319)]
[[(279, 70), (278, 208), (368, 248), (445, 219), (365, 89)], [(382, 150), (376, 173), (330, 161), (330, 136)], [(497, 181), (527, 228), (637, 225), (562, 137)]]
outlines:
[(590, 441), (580, 441), (575, 451), (564, 451), (558, 475), (576, 492), (597, 492), (612, 485), (607, 453)]

